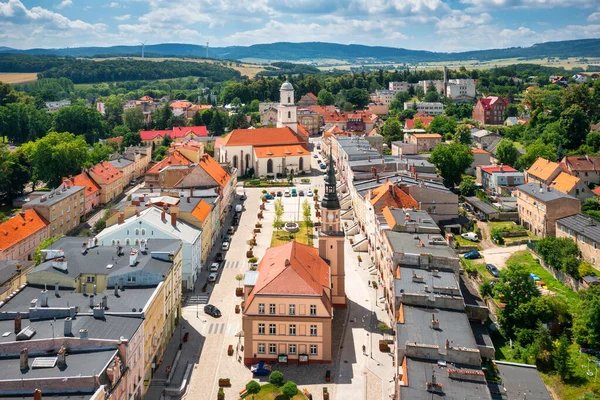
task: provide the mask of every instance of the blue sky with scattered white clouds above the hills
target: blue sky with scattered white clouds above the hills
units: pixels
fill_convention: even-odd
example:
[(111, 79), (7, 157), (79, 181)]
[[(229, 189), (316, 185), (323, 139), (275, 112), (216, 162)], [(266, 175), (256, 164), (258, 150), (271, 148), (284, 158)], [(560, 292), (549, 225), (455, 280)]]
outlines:
[(276, 41), (463, 51), (600, 37), (600, 0), (0, 0), (0, 46)]

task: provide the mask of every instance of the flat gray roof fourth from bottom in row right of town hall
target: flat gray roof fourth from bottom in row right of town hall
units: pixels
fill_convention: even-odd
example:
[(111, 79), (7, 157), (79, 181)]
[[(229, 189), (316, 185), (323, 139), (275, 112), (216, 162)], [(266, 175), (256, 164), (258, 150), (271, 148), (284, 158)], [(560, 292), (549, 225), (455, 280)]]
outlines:
[[(436, 257), (458, 258), (439, 234), (384, 231), (394, 253), (431, 254)], [(418, 240), (420, 239), (420, 241)], [(437, 240), (436, 240), (437, 239)], [(436, 240), (440, 244), (431, 244)], [(422, 242), (422, 246), (419, 243)]]

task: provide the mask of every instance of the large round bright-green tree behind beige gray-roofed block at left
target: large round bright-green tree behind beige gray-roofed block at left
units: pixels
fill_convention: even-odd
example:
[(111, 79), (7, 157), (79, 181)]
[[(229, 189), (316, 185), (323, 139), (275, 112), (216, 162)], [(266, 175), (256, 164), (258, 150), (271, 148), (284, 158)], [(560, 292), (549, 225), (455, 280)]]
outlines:
[(88, 161), (88, 145), (83, 136), (50, 132), (22, 146), (31, 162), (34, 180), (56, 187), (64, 176), (77, 175)]

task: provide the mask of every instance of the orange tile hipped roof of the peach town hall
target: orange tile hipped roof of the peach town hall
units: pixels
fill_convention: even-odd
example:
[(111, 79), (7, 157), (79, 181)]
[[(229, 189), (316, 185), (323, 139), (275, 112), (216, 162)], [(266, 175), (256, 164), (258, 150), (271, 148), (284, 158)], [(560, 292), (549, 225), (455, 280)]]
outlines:
[(248, 305), (256, 294), (322, 296), (331, 287), (329, 265), (319, 257), (319, 250), (298, 242), (267, 249), (258, 272)]

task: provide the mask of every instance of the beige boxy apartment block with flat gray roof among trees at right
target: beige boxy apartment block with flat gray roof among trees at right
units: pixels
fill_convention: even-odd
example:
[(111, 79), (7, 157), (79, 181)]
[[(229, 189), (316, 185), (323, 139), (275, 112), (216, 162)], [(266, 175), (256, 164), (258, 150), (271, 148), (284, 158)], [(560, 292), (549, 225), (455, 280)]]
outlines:
[(556, 220), (581, 212), (581, 201), (539, 183), (517, 187), (519, 222), (539, 237), (555, 236)]

